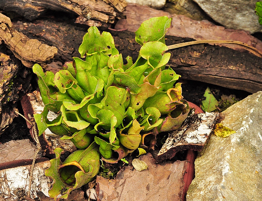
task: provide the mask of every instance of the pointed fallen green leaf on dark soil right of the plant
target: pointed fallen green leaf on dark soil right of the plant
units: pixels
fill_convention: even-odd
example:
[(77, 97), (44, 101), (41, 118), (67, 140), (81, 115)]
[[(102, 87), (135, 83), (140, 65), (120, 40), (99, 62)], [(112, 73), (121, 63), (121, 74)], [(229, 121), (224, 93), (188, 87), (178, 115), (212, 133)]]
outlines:
[(214, 111), (219, 102), (215, 99), (215, 96), (212, 94), (209, 87), (207, 87), (204, 97), (206, 97), (206, 100), (202, 101), (201, 109), (205, 112)]

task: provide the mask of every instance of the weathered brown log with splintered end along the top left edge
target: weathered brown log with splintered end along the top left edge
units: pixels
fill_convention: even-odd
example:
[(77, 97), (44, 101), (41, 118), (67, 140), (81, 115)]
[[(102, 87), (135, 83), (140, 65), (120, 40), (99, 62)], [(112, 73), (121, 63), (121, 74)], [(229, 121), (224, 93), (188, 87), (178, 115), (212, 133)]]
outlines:
[(127, 3), (124, 0), (1, 0), (0, 8), (15, 11), (29, 20), (43, 15), (47, 10), (64, 11), (80, 17), (114, 23), (115, 18), (123, 18)]

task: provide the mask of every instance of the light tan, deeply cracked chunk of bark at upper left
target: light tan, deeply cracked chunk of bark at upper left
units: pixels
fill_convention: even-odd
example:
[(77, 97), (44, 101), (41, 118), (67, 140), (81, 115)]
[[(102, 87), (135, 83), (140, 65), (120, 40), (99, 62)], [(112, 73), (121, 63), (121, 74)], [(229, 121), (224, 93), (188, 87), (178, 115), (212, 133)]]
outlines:
[(37, 39), (29, 39), (14, 29), (10, 18), (0, 13), (0, 39), (22, 63), (31, 68), (35, 63), (46, 66), (46, 62), (57, 53), (56, 47), (50, 47)]

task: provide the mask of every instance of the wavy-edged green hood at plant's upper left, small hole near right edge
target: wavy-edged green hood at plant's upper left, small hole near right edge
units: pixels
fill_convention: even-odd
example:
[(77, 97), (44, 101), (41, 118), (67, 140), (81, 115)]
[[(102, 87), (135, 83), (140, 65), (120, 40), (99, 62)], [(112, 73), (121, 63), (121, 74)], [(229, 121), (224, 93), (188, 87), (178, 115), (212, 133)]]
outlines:
[(89, 27), (88, 33), (84, 35), (78, 51), (83, 58), (85, 54), (91, 55), (94, 52), (103, 52), (106, 55), (110, 55), (112, 48), (115, 48), (115, 44), (109, 32), (103, 31), (100, 35), (97, 27)]

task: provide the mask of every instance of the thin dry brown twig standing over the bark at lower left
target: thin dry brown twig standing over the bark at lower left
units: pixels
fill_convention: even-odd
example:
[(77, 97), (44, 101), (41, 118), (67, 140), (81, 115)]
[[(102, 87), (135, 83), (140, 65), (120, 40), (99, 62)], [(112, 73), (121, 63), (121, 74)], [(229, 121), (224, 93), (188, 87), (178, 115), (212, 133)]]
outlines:
[(35, 123), (34, 117), (31, 117), (31, 115), (28, 114), (28, 118), (29, 118), (29, 120), (28, 120), (26, 117), (24, 117), (22, 114), (18, 113), (17, 111), (15, 111), (15, 113), (20, 115), (21, 117), (23, 117), (32, 126), (32, 133), (33, 133), (32, 136), (33, 136), (33, 138), (36, 142), (36, 150), (35, 150), (35, 155), (34, 155), (34, 159), (33, 159), (31, 170), (30, 170), (28, 193), (27, 193), (27, 198), (30, 199), (30, 191), (31, 191), (31, 184), (32, 184), (32, 180), (33, 180), (33, 170), (34, 170), (34, 166), (35, 166), (35, 160), (36, 160), (37, 154), (41, 150), (41, 145), (40, 145), (40, 142), (39, 142), (39, 139), (38, 139), (38, 134), (37, 134), (36, 123)]

